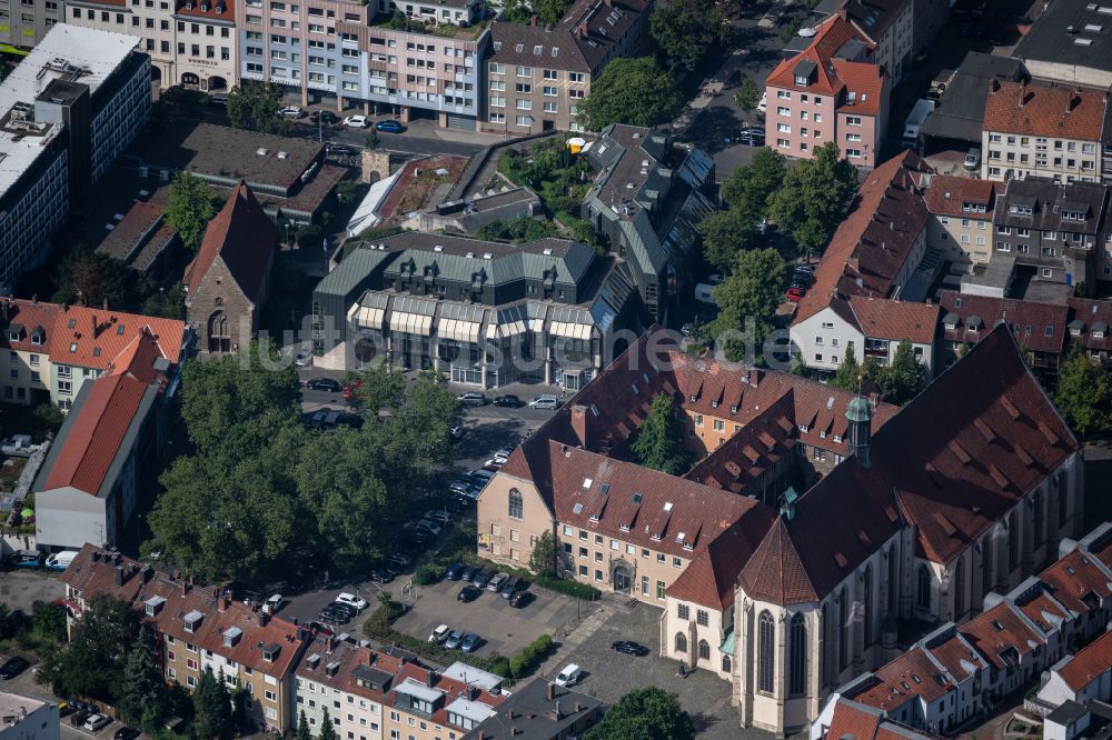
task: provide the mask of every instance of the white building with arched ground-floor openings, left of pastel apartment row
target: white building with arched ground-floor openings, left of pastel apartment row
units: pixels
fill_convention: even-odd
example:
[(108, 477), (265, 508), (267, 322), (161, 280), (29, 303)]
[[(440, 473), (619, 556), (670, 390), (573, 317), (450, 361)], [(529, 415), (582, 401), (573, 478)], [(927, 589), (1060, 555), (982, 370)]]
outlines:
[(70, 0), (66, 22), (141, 37), (151, 78), (217, 92), (238, 82), (231, 0)]

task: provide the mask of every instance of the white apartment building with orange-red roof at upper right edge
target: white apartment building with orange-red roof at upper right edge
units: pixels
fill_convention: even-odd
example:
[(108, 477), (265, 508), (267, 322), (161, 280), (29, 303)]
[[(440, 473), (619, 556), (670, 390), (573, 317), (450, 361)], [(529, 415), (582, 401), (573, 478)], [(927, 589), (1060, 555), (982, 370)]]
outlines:
[(982, 124), (981, 177), (1041, 177), (1101, 182), (1108, 139), (1108, 92), (1048, 83), (989, 83)]

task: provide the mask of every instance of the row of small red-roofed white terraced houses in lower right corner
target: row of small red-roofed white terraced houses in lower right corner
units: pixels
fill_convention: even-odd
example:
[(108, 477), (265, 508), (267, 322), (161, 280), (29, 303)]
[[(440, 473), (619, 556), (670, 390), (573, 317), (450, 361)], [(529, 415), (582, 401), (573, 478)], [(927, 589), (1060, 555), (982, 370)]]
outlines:
[(969, 621), (949, 621), (840, 687), (811, 737), (828, 736), (832, 707), (842, 702), (919, 730), (954, 734), (1041, 677), (1039, 698), (1049, 706), (1106, 700), (1112, 640), (1101, 632), (1112, 613), (1110, 532), (1104, 523), (1080, 541), (1063, 539), (1055, 562), (1011, 590), (985, 591), (984, 610)]

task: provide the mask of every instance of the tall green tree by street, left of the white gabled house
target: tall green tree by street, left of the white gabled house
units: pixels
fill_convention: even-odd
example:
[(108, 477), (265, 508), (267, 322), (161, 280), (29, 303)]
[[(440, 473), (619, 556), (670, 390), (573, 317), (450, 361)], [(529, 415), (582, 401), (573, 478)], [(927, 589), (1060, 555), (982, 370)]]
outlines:
[(737, 254), (733, 273), (714, 289), (718, 317), (711, 322), (708, 332), (724, 347), (728, 359), (741, 360), (746, 344), (753, 354), (757, 353), (772, 331), (786, 280), (787, 263), (775, 249)]

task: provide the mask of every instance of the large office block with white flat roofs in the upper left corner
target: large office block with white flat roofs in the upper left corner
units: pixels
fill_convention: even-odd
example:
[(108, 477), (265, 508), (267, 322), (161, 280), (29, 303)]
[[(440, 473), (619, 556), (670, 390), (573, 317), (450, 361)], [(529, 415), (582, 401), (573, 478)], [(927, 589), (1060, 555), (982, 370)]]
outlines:
[(0, 292), (46, 259), (70, 203), (146, 126), (138, 41), (60, 23), (0, 83)]

